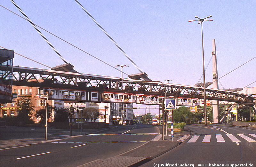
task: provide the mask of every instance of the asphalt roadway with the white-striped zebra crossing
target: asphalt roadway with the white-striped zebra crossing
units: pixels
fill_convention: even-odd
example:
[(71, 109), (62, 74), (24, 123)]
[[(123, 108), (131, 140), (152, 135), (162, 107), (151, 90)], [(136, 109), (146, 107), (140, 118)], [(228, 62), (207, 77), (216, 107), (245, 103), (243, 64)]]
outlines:
[(181, 145), (142, 166), (256, 166), (256, 130), (189, 125)]

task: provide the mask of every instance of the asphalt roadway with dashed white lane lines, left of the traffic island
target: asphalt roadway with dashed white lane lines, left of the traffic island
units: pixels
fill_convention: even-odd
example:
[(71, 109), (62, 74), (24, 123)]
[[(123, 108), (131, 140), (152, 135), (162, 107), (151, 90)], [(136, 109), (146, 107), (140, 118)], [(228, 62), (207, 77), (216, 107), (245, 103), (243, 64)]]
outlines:
[[(62, 135), (63, 131), (51, 133), (58, 135), (57, 133), (60, 132)], [(35, 132), (34, 136), (41, 136), (41, 133), (43, 132), (38, 134)], [(45, 143), (0, 147), (0, 164), (1, 166), (79, 166), (125, 153), (152, 140), (158, 133), (156, 126), (128, 125)]]

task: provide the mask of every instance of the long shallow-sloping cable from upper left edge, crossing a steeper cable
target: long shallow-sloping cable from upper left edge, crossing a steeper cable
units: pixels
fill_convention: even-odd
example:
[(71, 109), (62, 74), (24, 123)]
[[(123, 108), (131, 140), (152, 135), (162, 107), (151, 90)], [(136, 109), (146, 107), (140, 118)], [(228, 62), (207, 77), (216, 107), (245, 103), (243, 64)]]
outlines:
[[(8, 11), (12, 12), (11, 10), (7, 9), (7, 8), (6, 8), (6, 7), (4, 7), (4, 6), (2, 6), (2, 5), (0, 5), (0, 6), (1, 6), (1, 7), (3, 7), (4, 9), (6, 9), (6, 10), (8, 10)], [(12, 12), (12, 13), (13, 13), (13, 14), (16, 14), (17, 16), (21, 17), (21, 18), (22, 18), (22, 19), (24, 19), (24, 20), (27, 20), (27, 19), (25, 19), (24, 17), (20, 16), (19, 14), (15, 13), (15, 12)], [(27, 20), (27, 21), (28, 21), (28, 20)], [(34, 24), (34, 23), (33, 23), (33, 24)], [(99, 58), (97, 58), (97, 57), (93, 56), (92, 54), (90, 54), (90, 53), (88, 53), (88, 52), (85, 52), (84, 50), (82, 50), (82, 49), (80, 49), (80, 48), (76, 47), (75, 45), (73, 45), (73, 44), (69, 43), (68, 41), (65, 41), (64, 39), (60, 38), (59, 36), (56, 36), (56, 35), (52, 34), (51, 32), (47, 31), (46, 29), (44, 29), (44, 28), (42, 28), (42, 27), (40, 27), (40, 26), (38, 26), (38, 25), (36, 25), (36, 24), (34, 24), (34, 25), (35, 25), (35, 26), (37, 26), (37, 27), (39, 27), (39, 28), (41, 28), (41, 29), (43, 29), (44, 31), (48, 32), (49, 34), (51, 34), (51, 35), (53, 35), (53, 36), (55, 36), (55, 37), (59, 38), (60, 40), (62, 40), (62, 41), (64, 41), (64, 42), (66, 42), (67, 44), (69, 44), (69, 45), (71, 45), (71, 46), (75, 47), (76, 49), (78, 49), (78, 50), (80, 50), (80, 51), (82, 51), (82, 52), (84, 52), (84, 53), (88, 54), (89, 56), (92, 56), (93, 58), (95, 58), (95, 59), (97, 59), (97, 60), (101, 61), (102, 63), (104, 63), (104, 64), (106, 64), (106, 65), (108, 65), (108, 66), (110, 66), (110, 67), (112, 67), (112, 68), (115, 68), (114, 66), (111, 66), (110, 64), (106, 63), (105, 61), (100, 60)], [(115, 69), (116, 69), (117, 71), (122, 72), (122, 71), (121, 71), (121, 70), (119, 70), (118, 68), (115, 68)], [(123, 74), (125, 74), (125, 75), (127, 75), (127, 76), (129, 75), (129, 74), (126, 74), (125, 72), (123, 72)]]

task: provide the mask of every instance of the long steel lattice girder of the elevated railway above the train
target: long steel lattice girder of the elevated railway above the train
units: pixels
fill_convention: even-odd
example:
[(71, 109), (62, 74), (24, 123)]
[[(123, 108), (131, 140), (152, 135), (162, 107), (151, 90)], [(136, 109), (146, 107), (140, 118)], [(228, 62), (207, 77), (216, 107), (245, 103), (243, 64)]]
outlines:
[[(1, 69), (0, 69), (1, 70)], [(204, 99), (203, 87), (142, 81), (118, 77), (62, 72), (38, 68), (13, 67), (13, 85), (97, 91), (129, 92)], [(253, 97), (243, 93), (206, 88), (206, 98), (252, 105)]]

